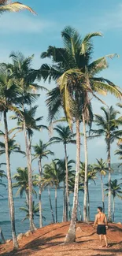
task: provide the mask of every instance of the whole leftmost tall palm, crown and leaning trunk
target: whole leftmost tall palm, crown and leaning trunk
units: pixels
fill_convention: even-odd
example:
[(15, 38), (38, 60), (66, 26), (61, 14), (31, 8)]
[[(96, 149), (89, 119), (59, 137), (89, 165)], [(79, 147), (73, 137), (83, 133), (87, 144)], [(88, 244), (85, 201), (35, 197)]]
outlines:
[[(0, 111), (3, 113), (4, 127), (5, 127), (5, 150), (6, 150), (6, 169), (8, 177), (8, 194), (9, 194), (9, 213), (12, 226), (13, 247), (18, 247), (17, 236), (15, 230), (15, 217), (14, 217), (14, 202), (13, 202), (13, 189), (9, 162), (9, 137), (8, 137), (8, 124), (7, 113), (14, 111), (20, 113), (17, 109), (17, 104), (20, 102), (19, 91), (15, 79), (11, 76), (12, 72), (6, 67), (2, 68), (0, 72)], [(21, 113), (20, 113), (21, 114)]]

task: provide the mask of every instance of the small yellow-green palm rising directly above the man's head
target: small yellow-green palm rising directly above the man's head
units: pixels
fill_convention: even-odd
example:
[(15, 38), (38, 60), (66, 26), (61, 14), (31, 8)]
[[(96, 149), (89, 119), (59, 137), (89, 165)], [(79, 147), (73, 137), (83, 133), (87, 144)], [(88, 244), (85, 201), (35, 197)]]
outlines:
[(106, 162), (103, 161), (101, 158), (100, 160), (97, 159), (97, 164), (94, 165), (94, 170), (97, 171), (97, 173), (101, 176), (101, 184), (102, 184), (102, 207), (103, 207), (103, 213), (105, 213), (105, 202), (104, 202), (104, 184), (102, 176), (105, 176), (107, 174), (108, 168), (106, 167)]

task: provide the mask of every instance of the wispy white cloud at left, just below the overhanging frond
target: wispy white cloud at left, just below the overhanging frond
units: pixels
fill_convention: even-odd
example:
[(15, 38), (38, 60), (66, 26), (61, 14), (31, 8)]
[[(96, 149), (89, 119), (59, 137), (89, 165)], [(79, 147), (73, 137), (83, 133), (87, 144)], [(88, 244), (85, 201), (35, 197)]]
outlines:
[(11, 33), (39, 33), (46, 28), (55, 25), (51, 20), (42, 20), (38, 16), (25, 15), (23, 13), (4, 14), (1, 17), (0, 31), (2, 34)]

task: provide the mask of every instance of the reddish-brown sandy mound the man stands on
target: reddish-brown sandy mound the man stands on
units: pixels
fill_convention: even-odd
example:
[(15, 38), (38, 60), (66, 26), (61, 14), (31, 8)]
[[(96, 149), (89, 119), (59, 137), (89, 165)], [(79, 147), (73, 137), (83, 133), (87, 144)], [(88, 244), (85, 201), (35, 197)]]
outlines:
[[(69, 223), (51, 224), (23, 237), (20, 249), (13, 251), (13, 243), (0, 245), (0, 255), (6, 256), (122, 256), (122, 225), (109, 224), (109, 248), (99, 248), (98, 235), (91, 224), (77, 223), (76, 243), (62, 245)], [(79, 228), (78, 228), (79, 227)]]

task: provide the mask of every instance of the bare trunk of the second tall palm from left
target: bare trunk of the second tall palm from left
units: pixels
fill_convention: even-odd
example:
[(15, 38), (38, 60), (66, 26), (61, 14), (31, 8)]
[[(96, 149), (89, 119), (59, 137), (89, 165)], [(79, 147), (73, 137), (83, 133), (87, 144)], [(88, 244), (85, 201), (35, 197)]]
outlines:
[(32, 177), (31, 177), (31, 165), (30, 165), (30, 152), (28, 145), (28, 136), (26, 131), (26, 124), (24, 120), (24, 138), (25, 138), (25, 147), (26, 147), (26, 155), (27, 155), (27, 164), (28, 164), (28, 206), (29, 206), (29, 222), (30, 222), (30, 231), (35, 231), (35, 224), (32, 217)]

